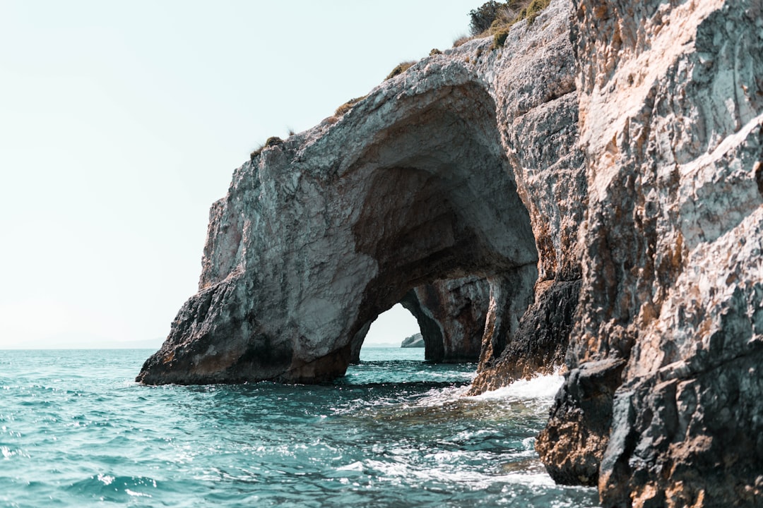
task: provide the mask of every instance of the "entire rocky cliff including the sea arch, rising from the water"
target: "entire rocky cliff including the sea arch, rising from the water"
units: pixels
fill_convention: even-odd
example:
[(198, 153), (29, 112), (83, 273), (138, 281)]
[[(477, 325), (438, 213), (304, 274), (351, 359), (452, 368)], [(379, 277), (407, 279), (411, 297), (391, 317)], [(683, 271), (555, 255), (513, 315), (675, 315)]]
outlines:
[(401, 302), (604, 506), (763, 504), (763, 2), (552, 0), (253, 157), (138, 380), (343, 375)]

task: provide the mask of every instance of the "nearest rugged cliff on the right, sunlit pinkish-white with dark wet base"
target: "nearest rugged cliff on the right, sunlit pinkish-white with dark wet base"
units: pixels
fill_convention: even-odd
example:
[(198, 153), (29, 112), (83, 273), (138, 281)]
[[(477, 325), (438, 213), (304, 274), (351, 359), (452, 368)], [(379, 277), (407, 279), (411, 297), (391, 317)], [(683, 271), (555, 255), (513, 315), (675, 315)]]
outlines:
[(604, 506), (761, 506), (763, 6), (573, 3), (583, 285), (538, 449)]

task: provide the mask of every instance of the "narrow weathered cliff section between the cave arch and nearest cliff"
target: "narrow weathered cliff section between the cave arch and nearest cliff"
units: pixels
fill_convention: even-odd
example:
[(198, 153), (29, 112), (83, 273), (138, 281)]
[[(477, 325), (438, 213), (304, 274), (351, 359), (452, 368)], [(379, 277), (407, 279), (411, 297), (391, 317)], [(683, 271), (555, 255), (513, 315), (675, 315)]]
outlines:
[[(481, 67), (494, 80), (497, 121), (530, 211), (539, 263), (532, 293), (512, 294), (517, 286), (504, 283), (491, 301), (496, 312), (488, 316), (473, 394), (558, 368), (578, 304), (587, 181), (568, 9), (568, 2), (552, 2), (533, 26), (511, 30), (501, 52), (489, 53)], [(478, 47), (487, 52), (489, 42)], [(513, 321), (503, 305), (526, 312)]]

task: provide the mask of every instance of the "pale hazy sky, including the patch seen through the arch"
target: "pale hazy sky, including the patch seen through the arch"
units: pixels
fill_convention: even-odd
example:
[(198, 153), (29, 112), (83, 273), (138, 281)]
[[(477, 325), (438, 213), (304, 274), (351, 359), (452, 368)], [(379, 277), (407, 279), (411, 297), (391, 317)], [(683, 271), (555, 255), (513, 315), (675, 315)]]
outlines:
[(0, 348), (159, 347), (233, 169), (481, 3), (0, 0)]

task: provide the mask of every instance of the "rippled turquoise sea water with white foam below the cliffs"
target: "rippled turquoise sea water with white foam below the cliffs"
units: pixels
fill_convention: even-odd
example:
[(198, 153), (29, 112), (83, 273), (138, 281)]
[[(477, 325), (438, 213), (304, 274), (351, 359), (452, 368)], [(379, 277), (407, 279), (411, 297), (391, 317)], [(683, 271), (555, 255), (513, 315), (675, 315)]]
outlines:
[(533, 451), (556, 379), (469, 398), (474, 364), (391, 348), (331, 385), (138, 385), (150, 353), (0, 351), (0, 506), (597, 505)]

